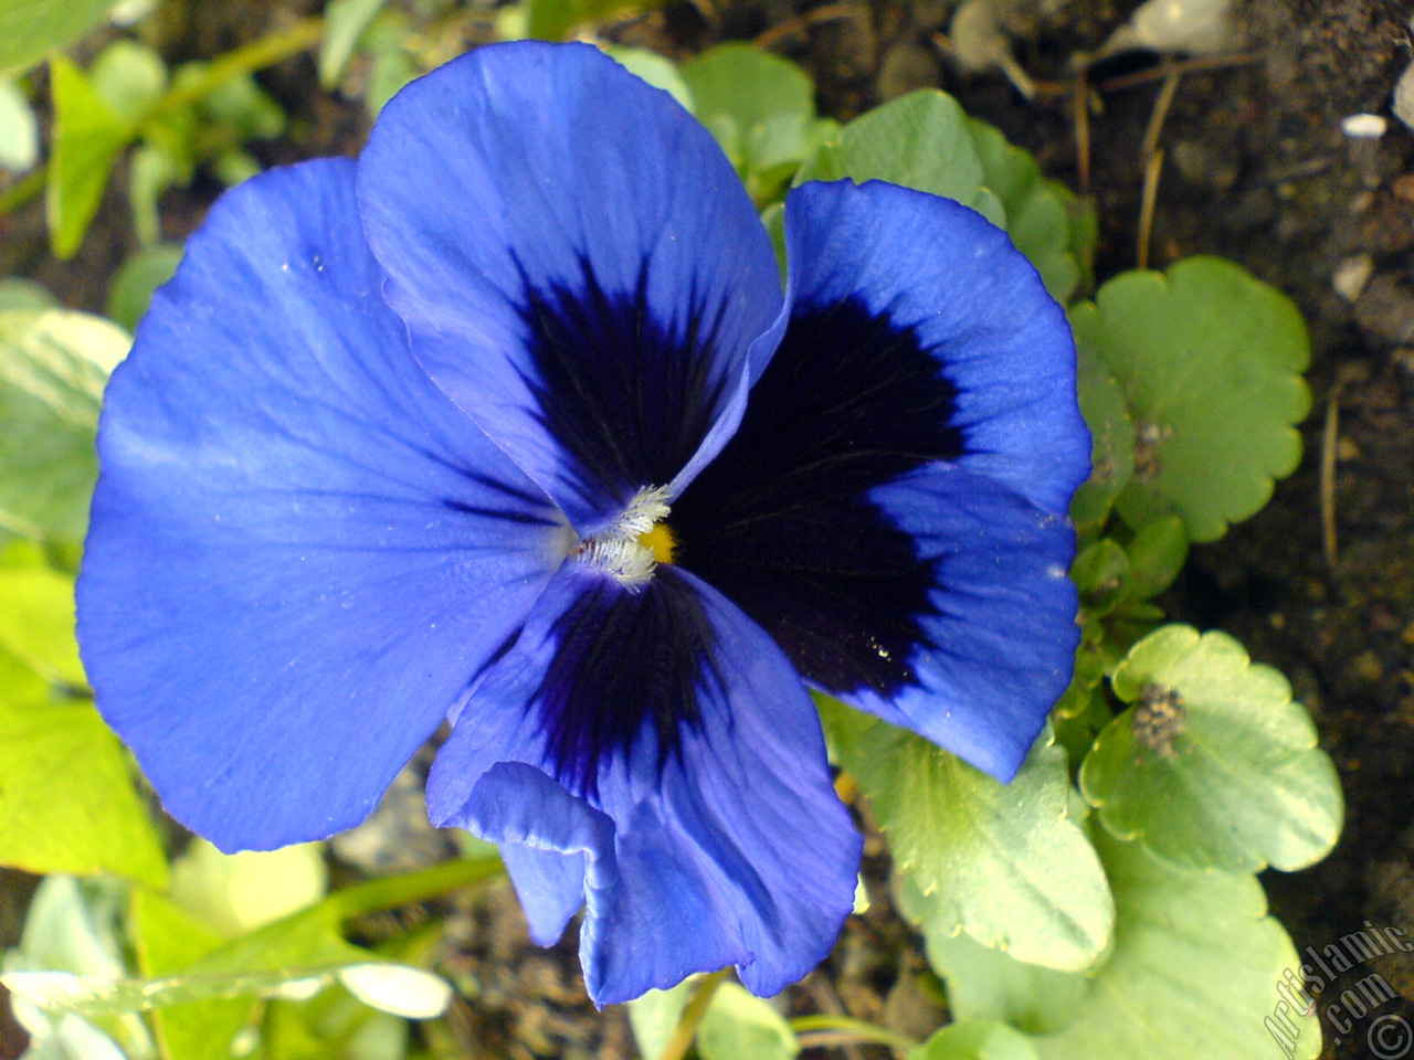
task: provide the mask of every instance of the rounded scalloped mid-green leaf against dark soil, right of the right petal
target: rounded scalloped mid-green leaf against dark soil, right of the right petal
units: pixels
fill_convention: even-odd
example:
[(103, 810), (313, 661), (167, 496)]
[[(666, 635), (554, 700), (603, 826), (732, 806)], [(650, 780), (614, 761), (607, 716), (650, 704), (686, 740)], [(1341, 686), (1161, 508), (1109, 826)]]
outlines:
[(1309, 342), (1280, 291), (1230, 261), (1191, 257), (1167, 274), (1117, 276), (1072, 324), (1100, 351), (1135, 420), (1126, 520), (1171, 510), (1195, 541), (1215, 541), (1295, 469)]

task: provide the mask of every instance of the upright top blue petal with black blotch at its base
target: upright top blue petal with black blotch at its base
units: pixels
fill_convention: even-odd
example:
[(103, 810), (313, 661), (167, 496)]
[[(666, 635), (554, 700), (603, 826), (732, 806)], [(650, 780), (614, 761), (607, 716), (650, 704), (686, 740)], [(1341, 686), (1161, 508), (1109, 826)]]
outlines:
[(584, 536), (696, 475), (783, 326), (731, 164), (588, 45), (482, 48), (409, 85), (359, 199), (419, 360)]

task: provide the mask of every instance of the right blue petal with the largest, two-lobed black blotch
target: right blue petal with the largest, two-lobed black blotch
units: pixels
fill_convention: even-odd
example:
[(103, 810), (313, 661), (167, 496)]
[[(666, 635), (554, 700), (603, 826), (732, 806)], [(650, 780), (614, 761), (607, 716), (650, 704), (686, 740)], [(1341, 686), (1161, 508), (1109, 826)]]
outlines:
[(673, 503), (676, 561), (816, 687), (1010, 776), (1077, 636), (1059, 513), (1089, 435), (1065, 315), (946, 199), (810, 184), (786, 226), (790, 322)]

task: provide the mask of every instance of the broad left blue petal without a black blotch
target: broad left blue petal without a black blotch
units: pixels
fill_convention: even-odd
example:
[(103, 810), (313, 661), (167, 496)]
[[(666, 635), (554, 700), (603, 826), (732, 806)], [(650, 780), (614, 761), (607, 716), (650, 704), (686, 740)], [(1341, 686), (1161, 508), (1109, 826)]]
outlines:
[(167, 808), (223, 849), (358, 824), (568, 546), (413, 360), (354, 175), (222, 198), (99, 427), (83, 659)]

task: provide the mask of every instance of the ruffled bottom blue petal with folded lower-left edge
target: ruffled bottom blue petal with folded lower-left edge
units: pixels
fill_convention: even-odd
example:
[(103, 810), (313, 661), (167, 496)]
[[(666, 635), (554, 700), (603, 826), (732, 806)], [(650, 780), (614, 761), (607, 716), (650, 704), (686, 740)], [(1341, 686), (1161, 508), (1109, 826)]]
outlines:
[[(643, 602), (650, 594), (663, 599)], [(684, 629), (591, 649), (598, 626), (566, 618), (601, 606), (666, 608)], [(591, 650), (646, 674), (638, 688), (649, 697), (679, 694), (686, 673), (691, 702), (624, 701), (594, 681), (567, 691), (568, 674), (550, 680), (564, 656), (581, 674)], [(605, 734), (592, 779), (567, 767), (559, 725), (568, 714), (556, 705), (566, 695), (574, 717), (636, 718), (633, 732)], [(834, 796), (809, 697), (759, 628), (673, 567), (635, 596), (567, 564), (472, 693), (428, 804), (434, 820), (488, 840), (584, 858), (580, 953), (601, 1005), (731, 964), (749, 989), (775, 994), (829, 953), (853, 905), (860, 837)], [(537, 903), (556, 917), (573, 882), (543, 858), (518, 876), (523, 892), (551, 895)]]

